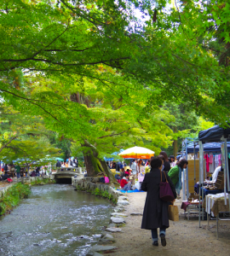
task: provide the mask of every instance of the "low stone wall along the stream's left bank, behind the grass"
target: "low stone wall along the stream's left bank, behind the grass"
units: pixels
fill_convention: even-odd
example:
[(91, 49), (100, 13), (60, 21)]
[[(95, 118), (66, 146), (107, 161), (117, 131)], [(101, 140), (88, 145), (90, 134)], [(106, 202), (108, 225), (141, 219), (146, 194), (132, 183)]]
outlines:
[(36, 181), (41, 181), (43, 182), (43, 179), (51, 179), (54, 180), (55, 176), (54, 175), (44, 175), (43, 177), (20, 177), (13, 180), (13, 183), (6, 183), (6, 185), (2, 188), (0, 188), (0, 198), (5, 195), (7, 190), (11, 188), (15, 183), (22, 183), (22, 184), (31, 184)]

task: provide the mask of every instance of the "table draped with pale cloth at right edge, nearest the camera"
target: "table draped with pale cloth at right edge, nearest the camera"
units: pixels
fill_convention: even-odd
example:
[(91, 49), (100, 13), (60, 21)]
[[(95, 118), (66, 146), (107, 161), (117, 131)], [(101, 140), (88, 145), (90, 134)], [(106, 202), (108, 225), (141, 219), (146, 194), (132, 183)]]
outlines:
[(207, 212), (207, 215), (208, 215), (207, 216), (208, 229), (210, 226), (210, 219), (214, 219), (212, 217), (216, 217), (216, 238), (218, 239), (219, 238), (219, 235), (218, 235), (219, 220), (230, 220), (230, 218), (219, 217), (219, 213), (229, 212), (228, 199), (227, 199), (227, 205), (225, 205), (224, 193), (221, 193), (219, 195), (207, 195), (204, 197), (204, 202), (202, 204), (202, 207), (205, 209), (205, 212)]

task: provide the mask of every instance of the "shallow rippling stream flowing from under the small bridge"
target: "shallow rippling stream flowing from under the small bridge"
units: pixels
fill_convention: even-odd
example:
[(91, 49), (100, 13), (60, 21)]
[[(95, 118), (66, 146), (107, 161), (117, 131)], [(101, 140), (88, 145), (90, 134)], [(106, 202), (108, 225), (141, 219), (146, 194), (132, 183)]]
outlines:
[(71, 185), (32, 187), (28, 199), (0, 218), (0, 255), (86, 255), (111, 212), (109, 201)]

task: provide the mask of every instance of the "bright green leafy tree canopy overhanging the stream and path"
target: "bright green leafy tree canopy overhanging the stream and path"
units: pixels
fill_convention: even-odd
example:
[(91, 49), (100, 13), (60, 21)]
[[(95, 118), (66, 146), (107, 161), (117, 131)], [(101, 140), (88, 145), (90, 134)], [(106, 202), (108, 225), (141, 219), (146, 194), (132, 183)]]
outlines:
[(204, 42), (229, 42), (227, 3), (169, 3), (3, 0), (5, 103), (98, 159), (143, 140), (170, 145), (167, 102), (226, 125), (228, 66)]

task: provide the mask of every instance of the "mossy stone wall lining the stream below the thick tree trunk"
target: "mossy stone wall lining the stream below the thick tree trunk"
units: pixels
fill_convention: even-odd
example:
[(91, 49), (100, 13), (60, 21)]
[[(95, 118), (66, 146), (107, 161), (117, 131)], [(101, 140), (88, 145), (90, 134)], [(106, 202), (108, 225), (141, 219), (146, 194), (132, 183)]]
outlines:
[(72, 186), (80, 191), (107, 197), (113, 203), (117, 204), (119, 196), (124, 195), (124, 193), (113, 189), (109, 184), (100, 183), (99, 180), (100, 177), (72, 177)]

